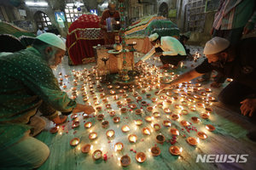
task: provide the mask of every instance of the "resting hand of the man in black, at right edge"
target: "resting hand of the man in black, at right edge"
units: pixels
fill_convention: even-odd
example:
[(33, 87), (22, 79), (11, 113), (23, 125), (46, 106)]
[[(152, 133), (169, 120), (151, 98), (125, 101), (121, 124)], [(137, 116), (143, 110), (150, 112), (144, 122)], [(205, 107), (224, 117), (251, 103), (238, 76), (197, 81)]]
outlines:
[(241, 114), (246, 116), (249, 113), (249, 116), (253, 116), (253, 112), (256, 111), (256, 99), (244, 99), (240, 102)]

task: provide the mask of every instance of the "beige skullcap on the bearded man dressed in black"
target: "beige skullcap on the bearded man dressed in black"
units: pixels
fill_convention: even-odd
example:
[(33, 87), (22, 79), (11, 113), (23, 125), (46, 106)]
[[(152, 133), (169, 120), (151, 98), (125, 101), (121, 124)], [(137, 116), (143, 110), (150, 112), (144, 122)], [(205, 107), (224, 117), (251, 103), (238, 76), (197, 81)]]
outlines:
[(223, 37), (213, 37), (210, 41), (206, 43), (206, 47), (204, 48), (204, 54), (218, 54), (229, 46), (229, 40)]

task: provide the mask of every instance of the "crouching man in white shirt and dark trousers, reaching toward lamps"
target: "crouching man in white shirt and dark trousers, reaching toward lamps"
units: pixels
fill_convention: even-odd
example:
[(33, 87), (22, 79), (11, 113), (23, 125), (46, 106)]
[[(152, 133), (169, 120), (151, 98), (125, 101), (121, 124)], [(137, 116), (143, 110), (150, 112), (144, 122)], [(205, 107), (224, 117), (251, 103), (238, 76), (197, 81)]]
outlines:
[(160, 37), (154, 33), (149, 36), (149, 41), (154, 48), (145, 54), (136, 65), (140, 65), (153, 54), (155, 57), (160, 57), (163, 63), (162, 68), (168, 67), (169, 64), (177, 66), (179, 61), (187, 57), (183, 45), (175, 37)]

